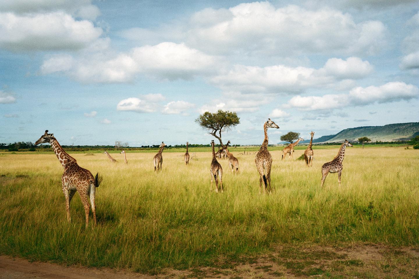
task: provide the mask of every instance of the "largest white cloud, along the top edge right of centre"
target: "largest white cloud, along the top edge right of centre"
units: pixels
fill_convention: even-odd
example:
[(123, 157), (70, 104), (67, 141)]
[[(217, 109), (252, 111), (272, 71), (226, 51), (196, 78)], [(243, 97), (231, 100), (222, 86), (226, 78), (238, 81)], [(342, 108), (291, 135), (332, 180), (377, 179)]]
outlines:
[[(269, 2), (206, 8), (183, 25), (173, 40), (211, 54), (375, 54), (385, 37), (385, 26), (380, 21), (355, 22), (349, 13), (331, 8), (275, 8)], [(148, 35), (170, 36), (166, 29), (157, 28)], [(134, 31), (129, 33), (134, 36)], [(179, 38), (178, 33), (184, 35)]]

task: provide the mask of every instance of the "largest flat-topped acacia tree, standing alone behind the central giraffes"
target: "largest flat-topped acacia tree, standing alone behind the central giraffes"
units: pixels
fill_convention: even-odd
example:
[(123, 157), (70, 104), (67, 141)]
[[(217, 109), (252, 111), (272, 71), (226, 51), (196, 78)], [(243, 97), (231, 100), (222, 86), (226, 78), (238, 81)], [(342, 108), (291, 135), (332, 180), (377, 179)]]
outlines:
[(215, 136), (220, 141), (222, 148), (224, 144), (221, 141), (221, 133), (230, 131), (240, 123), (240, 118), (235, 111), (218, 110), (216, 113), (204, 112), (195, 119), (203, 129), (209, 130), (209, 134)]

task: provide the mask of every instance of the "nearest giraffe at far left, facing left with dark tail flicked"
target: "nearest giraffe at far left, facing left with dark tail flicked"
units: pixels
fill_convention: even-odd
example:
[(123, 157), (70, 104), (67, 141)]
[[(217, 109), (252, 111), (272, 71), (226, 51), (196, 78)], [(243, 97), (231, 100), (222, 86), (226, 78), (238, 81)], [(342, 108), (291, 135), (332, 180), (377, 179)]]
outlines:
[(93, 177), (92, 173), (87, 169), (83, 169), (77, 164), (76, 159), (68, 155), (61, 145), (59, 145), (57, 139), (54, 137), (54, 134), (49, 134), (48, 130), (45, 130), (44, 135), (42, 135), (39, 140), (35, 142), (35, 145), (40, 143), (49, 143), (54, 150), (55, 155), (62, 167), (64, 168), (64, 173), (61, 177), (62, 182), (62, 192), (65, 196), (65, 205), (67, 210), (67, 221), (70, 222), (70, 202), (75, 192), (78, 191), (80, 194), (80, 200), (83, 203), (85, 215), (86, 215), (86, 228), (89, 224), (89, 200), (93, 212), (93, 220), (96, 225), (96, 204), (95, 204), (95, 195), (96, 187), (99, 187), (101, 184), (102, 178), (99, 177), (99, 174), (96, 174), (96, 177)]

